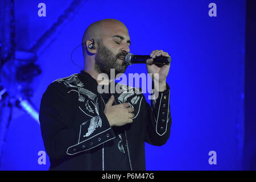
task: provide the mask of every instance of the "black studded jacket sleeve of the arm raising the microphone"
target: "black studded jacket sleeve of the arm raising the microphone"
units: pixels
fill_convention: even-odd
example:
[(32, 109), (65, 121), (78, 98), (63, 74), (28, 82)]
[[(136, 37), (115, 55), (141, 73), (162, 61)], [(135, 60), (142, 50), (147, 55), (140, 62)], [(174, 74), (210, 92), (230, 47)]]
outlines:
[(170, 87), (153, 96), (151, 106), (147, 105), (147, 129), (145, 140), (154, 146), (162, 146), (167, 142), (171, 132)]

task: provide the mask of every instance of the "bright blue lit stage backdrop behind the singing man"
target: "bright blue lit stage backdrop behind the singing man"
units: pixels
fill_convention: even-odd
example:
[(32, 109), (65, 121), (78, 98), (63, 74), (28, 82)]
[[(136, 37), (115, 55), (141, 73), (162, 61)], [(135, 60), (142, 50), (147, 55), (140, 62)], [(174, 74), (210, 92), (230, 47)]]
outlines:
[[(38, 16), (40, 2), (46, 4), (46, 17)], [(71, 2), (15, 1), (16, 49), (30, 49)], [(212, 2), (217, 17), (208, 15)], [(105, 18), (125, 23), (131, 53), (163, 49), (172, 57), (171, 136), (161, 147), (146, 144), (147, 170), (241, 169), (245, 1), (83, 1), (38, 55), (42, 74), (31, 98), (36, 109), (52, 81), (80, 72), (71, 52), (86, 27)], [(73, 59), (83, 67), (81, 53), (80, 47)], [(126, 74), (146, 72), (145, 65), (131, 65)], [(40, 126), (14, 108), (0, 169), (48, 170), (48, 158), (38, 164), (39, 151), (44, 151)], [(209, 151), (216, 151), (216, 165), (208, 163)]]

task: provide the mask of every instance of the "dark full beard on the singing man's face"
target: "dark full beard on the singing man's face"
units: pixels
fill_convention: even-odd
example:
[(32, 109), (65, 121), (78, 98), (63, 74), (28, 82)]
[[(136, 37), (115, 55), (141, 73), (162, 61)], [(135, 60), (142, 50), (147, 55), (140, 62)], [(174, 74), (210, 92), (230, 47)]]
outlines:
[(98, 52), (95, 57), (95, 69), (98, 73), (106, 73), (110, 78), (110, 69), (115, 70), (115, 77), (118, 73), (125, 73), (128, 65), (123, 61), (122, 64), (117, 62), (118, 57), (126, 56), (125, 52), (120, 52), (117, 55), (98, 41)]

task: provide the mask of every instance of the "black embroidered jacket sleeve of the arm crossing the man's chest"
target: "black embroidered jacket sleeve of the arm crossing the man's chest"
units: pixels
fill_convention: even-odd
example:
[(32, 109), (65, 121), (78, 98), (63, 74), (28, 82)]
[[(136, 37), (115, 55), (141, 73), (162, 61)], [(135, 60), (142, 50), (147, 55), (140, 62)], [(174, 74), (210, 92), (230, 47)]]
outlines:
[(80, 110), (74, 107), (72, 99), (67, 87), (59, 82), (53, 82), (43, 94), (39, 121), (50, 159), (88, 151), (115, 138), (103, 112), (94, 117), (75, 117)]

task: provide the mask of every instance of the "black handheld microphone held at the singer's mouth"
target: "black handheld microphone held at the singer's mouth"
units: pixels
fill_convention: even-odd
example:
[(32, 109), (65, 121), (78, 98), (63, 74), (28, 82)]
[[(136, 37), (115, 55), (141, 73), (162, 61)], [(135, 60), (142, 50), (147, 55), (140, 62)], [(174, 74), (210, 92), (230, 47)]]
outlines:
[[(147, 59), (151, 59), (152, 57), (148, 55), (133, 55), (132, 53), (128, 53), (125, 56), (125, 63), (127, 65), (131, 64), (141, 64), (141, 63), (146, 63)], [(171, 63), (171, 57), (166, 57), (166, 56), (159, 56), (155, 57), (153, 59), (153, 64), (169, 64)]]

